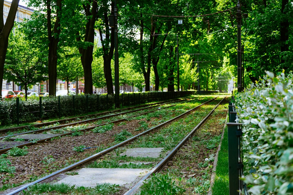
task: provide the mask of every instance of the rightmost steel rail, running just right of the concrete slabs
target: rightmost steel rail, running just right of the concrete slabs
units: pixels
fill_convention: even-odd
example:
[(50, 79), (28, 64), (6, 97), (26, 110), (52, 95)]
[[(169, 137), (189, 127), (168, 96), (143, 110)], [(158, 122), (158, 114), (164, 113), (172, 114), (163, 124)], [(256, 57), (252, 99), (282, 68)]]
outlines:
[(209, 116), (214, 112), (214, 110), (222, 103), (222, 101), (225, 99), (226, 97), (224, 97), (218, 104), (217, 106), (215, 106), (212, 111), (209, 112), (209, 114), (202, 120), (200, 121), (200, 123), (194, 127), (194, 129), (185, 136), (185, 138), (180, 141), (180, 143), (165, 157), (163, 158), (163, 160), (157, 164), (150, 172), (147, 173), (147, 175), (145, 175), (141, 180), (139, 180), (139, 182), (137, 182), (130, 190), (128, 190), (124, 195), (131, 195), (133, 194), (142, 184), (143, 182), (151, 175), (153, 175), (155, 172), (158, 172), (160, 170), (162, 170), (163, 166), (165, 166), (168, 161), (174, 156), (175, 153), (177, 153), (178, 149), (181, 148), (181, 146), (183, 144), (185, 144), (186, 141), (188, 141), (189, 137), (192, 136), (194, 134), (194, 132), (198, 129), (198, 127), (200, 127), (206, 120), (207, 118), (209, 118)]

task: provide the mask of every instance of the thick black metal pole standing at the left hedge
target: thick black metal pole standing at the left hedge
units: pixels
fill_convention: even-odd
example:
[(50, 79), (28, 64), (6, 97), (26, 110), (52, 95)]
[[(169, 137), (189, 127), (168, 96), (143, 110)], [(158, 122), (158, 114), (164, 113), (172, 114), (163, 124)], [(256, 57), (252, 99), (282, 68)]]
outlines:
[(114, 70), (115, 70), (115, 107), (120, 108), (119, 103), (119, 55), (118, 55), (118, 9), (117, 9), (117, 0), (114, 0), (114, 36), (115, 36), (115, 53), (114, 53)]

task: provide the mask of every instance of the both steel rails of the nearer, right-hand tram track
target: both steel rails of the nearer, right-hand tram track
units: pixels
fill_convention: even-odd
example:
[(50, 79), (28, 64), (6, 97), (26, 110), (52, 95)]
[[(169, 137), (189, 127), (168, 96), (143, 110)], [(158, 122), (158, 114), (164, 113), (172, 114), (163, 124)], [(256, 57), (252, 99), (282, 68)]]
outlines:
[[(222, 101), (223, 101), (224, 99), (225, 99), (225, 98), (223, 98)], [(221, 101), (221, 102), (222, 102), (222, 101)], [(208, 101), (208, 102), (210, 102), (210, 101)], [(205, 102), (205, 103), (208, 103), (208, 102)], [(211, 111), (209, 111), (209, 113), (207, 114), (207, 116), (205, 116), (205, 117), (202, 119), (202, 121), (199, 122), (199, 123), (197, 124), (197, 126), (194, 127), (193, 130), (190, 131), (190, 132), (184, 137), (184, 139), (182, 139), (182, 141), (180, 141), (180, 143), (179, 143), (176, 147), (174, 147), (174, 148), (171, 150), (171, 152), (170, 152), (165, 158), (163, 158), (163, 159), (161, 160), (161, 162), (159, 162), (159, 163), (158, 163), (158, 164), (157, 164), (157, 165), (156, 165), (156, 166), (155, 166), (155, 167), (154, 167), (154, 168), (153, 168), (153, 169), (152, 169), (152, 170), (151, 170), (146, 176), (144, 176), (142, 180), (140, 180), (136, 185), (134, 185), (133, 188), (131, 188), (129, 191), (127, 191), (126, 194), (133, 194), (134, 191), (136, 191), (136, 190), (140, 187), (140, 185), (144, 182), (144, 180), (146, 180), (150, 175), (152, 175), (154, 172), (158, 172), (158, 171), (162, 170), (163, 167), (166, 167), (166, 164), (170, 161), (171, 158), (173, 158), (173, 156), (175, 155), (176, 151), (178, 151), (178, 149), (179, 149), (179, 148), (180, 148), (180, 147), (181, 147), (181, 146), (182, 146), (182, 145), (183, 145), (183, 144), (184, 144), (184, 143), (185, 143), (185, 142), (191, 137), (191, 135), (197, 130), (197, 128), (200, 127), (200, 125), (201, 125), (205, 120), (207, 120), (207, 118), (209, 117), (209, 115), (212, 114), (212, 112), (214, 111), (214, 109), (216, 109), (217, 106), (219, 106), (219, 104), (220, 104), (221, 102), (219, 102), (216, 106), (214, 106), (214, 108), (211, 109)], [(203, 106), (205, 103), (201, 104), (200, 106)], [(31, 186), (31, 185), (33, 185), (33, 184), (36, 184), (36, 183), (38, 183), (38, 182), (43, 182), (43, 181), (45, 181), (45, 180), (48, 180), (49, 178), (55, 177), (56, 175), (58, 175), (58, 174), (60, 174), (60, 173), (63, 173), (63, 172), (66, 172), (66, 171), (72, 170), (72, 169), (74, 169), (74, 168), (76, 168), (76, 167), (81, 167), (81, 166), (84, 166), (84, 165), (86, 165), (86, 164), (88, 164), (88, 163), (91, 163), (92, 161), (95, 161), (95, 160), (101, 158), (102, 156), (105, 156), (107, 153), (109, 153), (110, 151), (113, 151), (114, 149), (117, 149), (118, 147), (121, 147), (121, 146), (124, 146), (124, 145), (126, 145), (126, 144), (130, 144), (130, 143), (132, 143), (132, 142), (133, 142), (135, 139), (137, 139), (138, 137), (141, 137), (141, 136), (146, 135), (146, 134), (150, 134), (151, 132), (154, 132), (154, 131), (159, 131), (160, 128), (166, 127), (169, 123), (173, 122), (174, 120), (180, 120), (180, 118), (185, 118), (186, 115), (190, 115), (190, 113), (197, 114), (195, 110), (196, 110), (197, 108), (200, 108), (200, 106), (196, 106), (196, 107), (194, 107), (194, 108), (192, 108), (192, 109), (189, 109), (189, 110), (186, 111), (185, 113), (180, 114), (180, 115), (178, 115), (178, 116), (176, 116), (176, 117), (174, 117), (174, 118), (172, 118), (172, 119), (170, 119), (170, 120), (167, 120), (167, 121), (165, 121), (165, 122), (162, 122), (161, 124), (156, 125), (155, 127), (152, 127), (152, 128), (150, 128), (150, 129), (148, 129), (148, 130), (142, 132), (142, 133), (139, 133), (139, 134), (137, 134), (137, 135), (135, 135), (135, 136), (133, 136), (133, 137), (131, 137), (131, 138), (125, 140), (125, 141), (122, 141), (122, 142), (120, 142), (120, 143), (118, 143), (118, 144), (115, 144), (114, 146), (108, 147), (107, 149), (104, 149), (103, 151), (100, 151), (100, 152), (98, 152), (98, 153), (96, 153), (96, 154), (94, 154), (94, 155), (91, 155), (91, 156), (89, 156), (88, 158), (85, 158), (85, 159), (83, 159), (83, 160), (81, 160), (81, 161), (79, 161), (79, 162), (76, 162), (76, 163), (74, 163), (74, 164), (72, 164), (72, 165), (70, 165), (70, 166), (67, 166), (67, 167), (65, 167), (65, 168), (62, 168), (62, 169), (56, 171), (56, 172), (53, 172), (53, 173), (51, 173), (50, 175), (47, 175), (46, 177), (43, 177), (43, 178), (41, 178), (41, 179), (39, 179), (39, 180), (36, 180), (35, 182), (32, 182), (32, 183), (27, 184), (27, 185), (24, 185), (23, 187), (20, 187), (20, 188), (18, 188), (17, 190), (14, 190), (14, 191), (10, 192), (9, 194), (11, 194), (11, 195), (12, 195), (12, 194), (17, 194), (17, 193), (19, 193), (20, 191), (22, 191), (23, 189), (26, 189), (27, 187), (29, 187), (29, 186)], [(119, 122), (119, 121), (118, 121), (118, 122)]]

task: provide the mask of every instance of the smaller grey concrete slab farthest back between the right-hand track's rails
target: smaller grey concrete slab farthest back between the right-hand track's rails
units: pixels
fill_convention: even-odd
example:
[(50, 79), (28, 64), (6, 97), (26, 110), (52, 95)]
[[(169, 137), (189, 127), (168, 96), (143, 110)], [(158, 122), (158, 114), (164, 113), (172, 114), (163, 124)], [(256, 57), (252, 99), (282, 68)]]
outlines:
[(120, 156), (158, 158), (164, 148), (130, 148), (120, 153)]

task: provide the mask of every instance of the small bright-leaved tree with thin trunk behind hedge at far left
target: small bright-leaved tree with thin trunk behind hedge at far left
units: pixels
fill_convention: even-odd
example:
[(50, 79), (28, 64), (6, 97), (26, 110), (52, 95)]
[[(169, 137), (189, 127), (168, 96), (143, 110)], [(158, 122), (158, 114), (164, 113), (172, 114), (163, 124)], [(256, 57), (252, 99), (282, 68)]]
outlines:
[(34, 42), (25, 40), (24, 36), (19, 28), (10, 33), (4, 78), (24, 86), (27, 99), (28, 86), (45, 80), (47, 53), (35, 47)]

